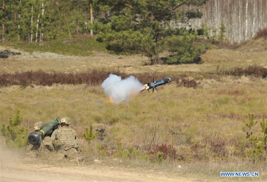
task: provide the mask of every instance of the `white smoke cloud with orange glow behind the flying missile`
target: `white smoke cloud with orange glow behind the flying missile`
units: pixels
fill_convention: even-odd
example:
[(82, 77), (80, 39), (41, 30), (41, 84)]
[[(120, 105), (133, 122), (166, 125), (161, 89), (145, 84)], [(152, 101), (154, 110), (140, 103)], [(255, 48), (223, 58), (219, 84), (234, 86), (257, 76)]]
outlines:
[(122, 101), (127, 103), (131, 99), (131, 95), (138, 94), (142, 90), (143, 84), (132, 75), (122, 80), (120, 76), (110, 74), (101, 87), (104, 88), (105, 95), (111, 102), (119, 104)]

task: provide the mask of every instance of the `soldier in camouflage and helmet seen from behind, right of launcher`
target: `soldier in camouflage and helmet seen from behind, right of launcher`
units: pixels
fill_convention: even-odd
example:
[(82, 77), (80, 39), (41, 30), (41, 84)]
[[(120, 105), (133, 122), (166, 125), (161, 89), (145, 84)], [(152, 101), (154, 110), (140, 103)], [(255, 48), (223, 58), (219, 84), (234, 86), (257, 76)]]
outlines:
[(69, 127), (70, 119), (68, 117), (61, 118), (59, 125), (58, 129), (51, 135), (55, 150), (63, 153), (66, 153), (66, 151), (77, 153), (79, 138), (76, 132)]

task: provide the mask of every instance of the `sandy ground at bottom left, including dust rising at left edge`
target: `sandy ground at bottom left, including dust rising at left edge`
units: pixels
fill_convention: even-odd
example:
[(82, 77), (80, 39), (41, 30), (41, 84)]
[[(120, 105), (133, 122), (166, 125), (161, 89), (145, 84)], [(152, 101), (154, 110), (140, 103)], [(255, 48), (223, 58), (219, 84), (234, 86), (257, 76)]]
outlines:
[(122, 167), (58, 166), (29, 162), (19, 152), (1, 146), (0, 181), (196, 181), (161, 172), (133, 171)]

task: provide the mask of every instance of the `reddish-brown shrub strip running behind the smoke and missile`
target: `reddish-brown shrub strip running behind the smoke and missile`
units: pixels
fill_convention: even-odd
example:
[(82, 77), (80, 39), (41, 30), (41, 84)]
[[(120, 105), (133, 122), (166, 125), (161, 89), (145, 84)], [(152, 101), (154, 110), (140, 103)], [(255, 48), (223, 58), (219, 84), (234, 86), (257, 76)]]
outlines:
[[(42, 70), (16, 72), (14, 74), (4, 72), (0, 77), (0, 86), (20, 85), (22, 87), (26, 87), (31, 84), (42, 86), (51, 86), (52, 84), (88, 84), (89, 86), (96, 86), (100, 85), (109, 76), (109, 74), (119, 75), (122, 79), (130, 76), (130, 74), (126, 74), (118, 70), (92, 70), (81, 73), (47, 73)], [(157, 72), (133, 75), (142, 83), (151, 82), (153, 76), (155, 79), (161, 79), (166, 76), (163, 73)], [(199, 84), (193, 78), (185, 78), (185, 75), (171, 76), (171, 79), (175, 81), (179, 87), (195, 88)]]

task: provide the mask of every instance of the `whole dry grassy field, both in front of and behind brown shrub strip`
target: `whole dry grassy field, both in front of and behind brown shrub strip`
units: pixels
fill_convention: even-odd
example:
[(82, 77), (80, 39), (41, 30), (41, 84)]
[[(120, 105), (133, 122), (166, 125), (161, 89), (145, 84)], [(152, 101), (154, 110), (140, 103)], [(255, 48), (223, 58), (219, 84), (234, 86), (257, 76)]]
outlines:
[[(266, 67), (266, 43), (266, 40), (259, 39), (235, 50), (208, 50), (202, 55), (203, 64), (187, 65), (143, 66), (145, 57), (110, 55), (99, 51), (83, 57), (23, 52), (22, 55), (1, 59), (1, 72), (38, 69), (81, 72), (94, 68), (119, 68), (125, 73), (158, 71), (190, 76), (216, 73), (235, 66)], [(19, 45), (14, 47), (30, 50)], [(4, 45), (1, 50), (6, 48)], [(190, 174), (198, 180), (208, 181), (264, 181), (267, 177), (266, 162), (252, 162), (245, 157), (249, 150), (248, 130), (242, 121), (247, 121), (248, 114), (254, 114), (258, 124), (252, 128), (253, 135), (263, 135), (259, 122), (267, 117), (266, 79), (217, 75), (199, 82), (196, 88), (167, 84), (159, 87), (159, 92), (142, 92), (133, 96), (128, 104), (118, 105), (109, 101), (100, 86), (1, 87), (1, 123), (8, 122), (15, 109), (20, 109), (22, 125), (29, 130), (37, 121), (68, 116), (73, 122), (71, 127), (81, 139), (79, 160), (85, 165), (123, 165), (177, 176)], [(94, 130), (106, 129), (104, 141), (94, 139), (88, 143), (83, 140), (85, 128), (90, 124)], [(119, 145), (121, 149), (118, 149)], [(163, 161), (158, 156), (160, 151), (164, 153)], [(39, 159), (50, 161), (54, 154), (40, 155)], [(94, 162), (94, 159), (101, 162)], [(178, 168), (179, 165), (182, 168)], [(260, 177), (222, 179), (220, 171), (258, 171)]]

